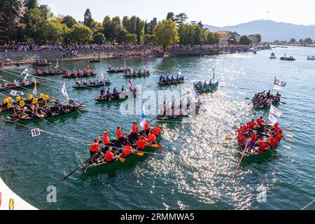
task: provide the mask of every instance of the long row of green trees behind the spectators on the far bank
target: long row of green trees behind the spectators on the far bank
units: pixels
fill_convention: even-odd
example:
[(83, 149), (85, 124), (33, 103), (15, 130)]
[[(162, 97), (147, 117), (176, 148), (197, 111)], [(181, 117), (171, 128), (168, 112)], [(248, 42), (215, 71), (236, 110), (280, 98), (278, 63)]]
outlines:
[(181, 45), (218, 44), (219, 36), (204, 29), (202, 22), (186, 23), (186, 13), (150, 22), (137, 16), (110, 18), (103, 22), (92, 18), (90, 9), (84, 14), (83, 22), (77, 22), (70, 15), (55, 16), (46, 5), (37, 0), (0, 0), (0, 40), (2, 43), (33, 42), (45, 43), (126, 43)]

